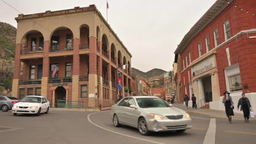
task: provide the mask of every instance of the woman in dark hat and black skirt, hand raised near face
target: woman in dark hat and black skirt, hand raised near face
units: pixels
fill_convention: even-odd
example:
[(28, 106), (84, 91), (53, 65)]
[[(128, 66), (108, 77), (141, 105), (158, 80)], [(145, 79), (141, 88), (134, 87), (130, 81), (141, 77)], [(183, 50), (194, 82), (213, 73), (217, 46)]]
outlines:
[(224, 93), (224, 97), (222, 100), (222, 103), (224, 103), (225, 106), (225, 111), (226, 111), (226, 115), (229, 119), (229, 123), (232, 123), (232, 115), (234, 116), (234, 102), (232, 100), (232, 97), (229, 95), (230, 93), (228, 91), (225, 91)]

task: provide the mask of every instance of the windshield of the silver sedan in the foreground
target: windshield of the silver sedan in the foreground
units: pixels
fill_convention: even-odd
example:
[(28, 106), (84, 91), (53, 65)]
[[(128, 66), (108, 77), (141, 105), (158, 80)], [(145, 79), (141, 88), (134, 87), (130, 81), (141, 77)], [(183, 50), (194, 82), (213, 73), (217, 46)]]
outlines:
[(171, 107), (163, 99), (160, 98), (137, 98), (137, 103), (141, 108), (150, 108), (150, 107)]

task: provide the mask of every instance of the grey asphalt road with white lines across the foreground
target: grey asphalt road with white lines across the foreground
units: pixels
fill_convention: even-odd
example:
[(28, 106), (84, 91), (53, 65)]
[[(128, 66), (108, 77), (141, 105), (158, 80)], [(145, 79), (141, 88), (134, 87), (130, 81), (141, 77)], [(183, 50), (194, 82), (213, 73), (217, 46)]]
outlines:
[[(136, 128), (115, 128), (109, 111), (51, 111), (40, 117), (0, 112), (2, 144), (255, 144), (256, 120), (228, 120), (190, 114), (193, 128), (184, 133), (141, 136)], [(210, 124), (211, 121), (211, 124)], [(216, 121), (216, 122), (215, 122)], [(216, 127), (216, 128), (215, 128)], [(215, 136), (214, 136), (215, 135)]]

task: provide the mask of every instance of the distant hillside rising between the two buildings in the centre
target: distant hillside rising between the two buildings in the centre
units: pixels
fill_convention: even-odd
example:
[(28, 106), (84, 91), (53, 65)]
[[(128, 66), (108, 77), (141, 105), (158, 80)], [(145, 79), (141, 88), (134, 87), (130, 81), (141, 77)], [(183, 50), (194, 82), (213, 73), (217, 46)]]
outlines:
[(163, 77), (163, 73), (166, 72), (163, 69), (152, 69), (148, 72), (142, 72), (136, 68), (131, 68), (131, 70), (132, 70), (132, 74), (134, 76), (137, 76), (138, 79), (141, 79), (141, 77), (143, 77), (144, 79), (146, 79), (148, 81), (160, 79), (161, 77)]

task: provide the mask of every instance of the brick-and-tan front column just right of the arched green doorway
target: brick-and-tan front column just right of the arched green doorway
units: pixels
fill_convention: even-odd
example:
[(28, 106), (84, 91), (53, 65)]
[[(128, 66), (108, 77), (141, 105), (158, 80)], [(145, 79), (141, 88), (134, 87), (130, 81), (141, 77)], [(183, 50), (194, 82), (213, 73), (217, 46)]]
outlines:
[(73, 71), (72, 71), (72, 101), (79, 99), (79, 74), (80, 74), (80, 56), (79, 44), (80, 38), (74, 38), (73, 50)]

